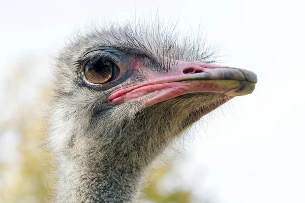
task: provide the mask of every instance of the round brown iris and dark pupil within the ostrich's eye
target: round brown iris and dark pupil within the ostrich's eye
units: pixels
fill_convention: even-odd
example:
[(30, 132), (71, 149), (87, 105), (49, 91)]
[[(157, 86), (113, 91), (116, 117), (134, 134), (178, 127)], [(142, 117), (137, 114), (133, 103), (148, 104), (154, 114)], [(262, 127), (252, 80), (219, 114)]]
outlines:
[(110, 61), (88, 62), (85, 66), (86, 78), (96, 84), (101, 84), (111, 79), (113, 65)]

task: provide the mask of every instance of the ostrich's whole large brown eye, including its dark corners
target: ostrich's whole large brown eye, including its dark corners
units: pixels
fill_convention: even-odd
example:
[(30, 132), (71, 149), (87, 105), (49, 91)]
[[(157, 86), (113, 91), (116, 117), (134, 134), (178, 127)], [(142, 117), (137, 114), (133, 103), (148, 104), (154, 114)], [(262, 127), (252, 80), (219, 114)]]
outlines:
[(89, 82), (103, 84), (115, 80), (119, 75), (119, 68), (107, 58), (93, 58), (85, 63), (83, 73)]

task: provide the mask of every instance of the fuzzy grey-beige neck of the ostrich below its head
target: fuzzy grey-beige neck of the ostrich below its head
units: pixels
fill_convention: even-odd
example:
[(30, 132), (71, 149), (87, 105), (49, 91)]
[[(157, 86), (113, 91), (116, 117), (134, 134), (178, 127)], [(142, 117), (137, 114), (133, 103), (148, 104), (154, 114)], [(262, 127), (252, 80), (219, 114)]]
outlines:
[(138, 122), (122, 131), (70, 136), (69, 149), (60, 153), (57, 202), (138, 202), (150, 163), (181, 133), (150, 129)]

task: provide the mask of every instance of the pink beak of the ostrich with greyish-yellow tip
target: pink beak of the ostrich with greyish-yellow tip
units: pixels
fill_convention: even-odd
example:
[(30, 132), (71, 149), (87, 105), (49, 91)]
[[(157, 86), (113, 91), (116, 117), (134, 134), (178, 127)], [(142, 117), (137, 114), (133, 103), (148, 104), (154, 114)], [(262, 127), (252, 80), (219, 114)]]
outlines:
[(232, 98), (252, 93), (257, 83), (251, 71), (196, 61), (178, 61), (168, 73), (147, 70), (145, 75), (147, 81), (115, 90), (107, 101), (118, 104), (143, 98), (148, 107), (188, 93), (217, 93)]

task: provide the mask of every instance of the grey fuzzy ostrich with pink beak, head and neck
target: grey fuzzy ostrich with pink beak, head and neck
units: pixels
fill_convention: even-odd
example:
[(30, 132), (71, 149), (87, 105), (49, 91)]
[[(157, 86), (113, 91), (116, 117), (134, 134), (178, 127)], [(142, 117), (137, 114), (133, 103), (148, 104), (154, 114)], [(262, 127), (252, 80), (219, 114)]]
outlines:
[(140, 202), (143, 175), (173, 140), (254, 90), (254, 73), (214, 59), (200, 35), (161, 23), (73, 38), (57, 57), (50, 112), (56, 202)]

